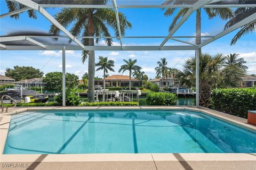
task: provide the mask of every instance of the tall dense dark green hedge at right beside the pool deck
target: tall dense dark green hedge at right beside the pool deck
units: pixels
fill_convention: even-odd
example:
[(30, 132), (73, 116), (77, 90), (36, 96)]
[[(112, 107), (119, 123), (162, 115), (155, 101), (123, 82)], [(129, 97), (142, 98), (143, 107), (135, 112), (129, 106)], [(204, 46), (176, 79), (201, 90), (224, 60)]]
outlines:
[(212, 91), (211, 108), (230, 115), (247, 118), (256, 110), (256, 88), (230, 88)]

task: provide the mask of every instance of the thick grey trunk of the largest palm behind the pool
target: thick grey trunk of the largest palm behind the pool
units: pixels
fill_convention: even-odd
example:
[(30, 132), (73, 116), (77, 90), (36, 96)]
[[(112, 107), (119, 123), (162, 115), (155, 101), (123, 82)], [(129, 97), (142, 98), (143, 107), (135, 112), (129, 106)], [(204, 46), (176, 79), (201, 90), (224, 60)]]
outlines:
[[(88, 23), (89, 36), (94, 36), (94, 27), (92, 18), (89, 18)], [(89, 39), (89, 46), (94, 46), (94, 39)], [(89, 51), (89, 63), (88, 63), (88, 101), (94, 102), (94, 77), (95, 77), (95, 53), (94, 51)]]

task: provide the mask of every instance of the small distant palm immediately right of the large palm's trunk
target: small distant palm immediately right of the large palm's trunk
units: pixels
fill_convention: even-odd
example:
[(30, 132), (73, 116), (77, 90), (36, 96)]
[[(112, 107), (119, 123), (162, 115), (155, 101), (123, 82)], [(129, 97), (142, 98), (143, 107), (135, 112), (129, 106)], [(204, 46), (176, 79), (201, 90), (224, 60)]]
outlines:
[(95, 64), (95, 66), (99, 67), (96, 71), (103, 70), (103, 89), (105, 90), (105, 78), (106, 78), (106, 73), (109, 71), (115, 71), (113, 69), (114, 65), (114, 60), (108, 60), (108, 57), (102, 57), (99, 56), (99, 62)]

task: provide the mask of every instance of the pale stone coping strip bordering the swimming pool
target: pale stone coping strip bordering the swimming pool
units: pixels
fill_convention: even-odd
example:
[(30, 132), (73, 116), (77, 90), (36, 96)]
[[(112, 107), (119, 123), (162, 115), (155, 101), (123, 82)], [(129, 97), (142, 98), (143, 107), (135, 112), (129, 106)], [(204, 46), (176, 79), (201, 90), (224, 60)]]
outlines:
[[(256, 154), (212, 154), (212, 153), (177, 153), (177, 154), (3, 154), (11, 115), (27, 111), (47, 110), (108, 110), (108, 109), (172, 109), (195, 111), (210, 115), (228, 123), (242, 126), (256, 132), (256, 126), (247, 124), (247, 120), (225, 113), (196, 106), (92, 106), (92, 107), (17, 107), (9, 113), (0, 114), (0, 162), (161, 162), (161, 161), (256, 161)], [(43, 157), (43, 158), (42, 158)]]

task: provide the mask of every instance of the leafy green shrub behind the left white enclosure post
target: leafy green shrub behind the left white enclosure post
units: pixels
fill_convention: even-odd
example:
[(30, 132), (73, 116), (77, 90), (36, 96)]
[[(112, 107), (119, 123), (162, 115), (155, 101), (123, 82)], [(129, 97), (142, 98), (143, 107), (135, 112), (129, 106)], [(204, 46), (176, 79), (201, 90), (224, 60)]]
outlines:
[[(55, 101), (59, 105), (62, 105), (62, 94), (55, 96)], [(66, 105), (67, 106), (78, 106), (81, 103), (80, 98), (76, 95), (74, 90), (66, 90)]]

